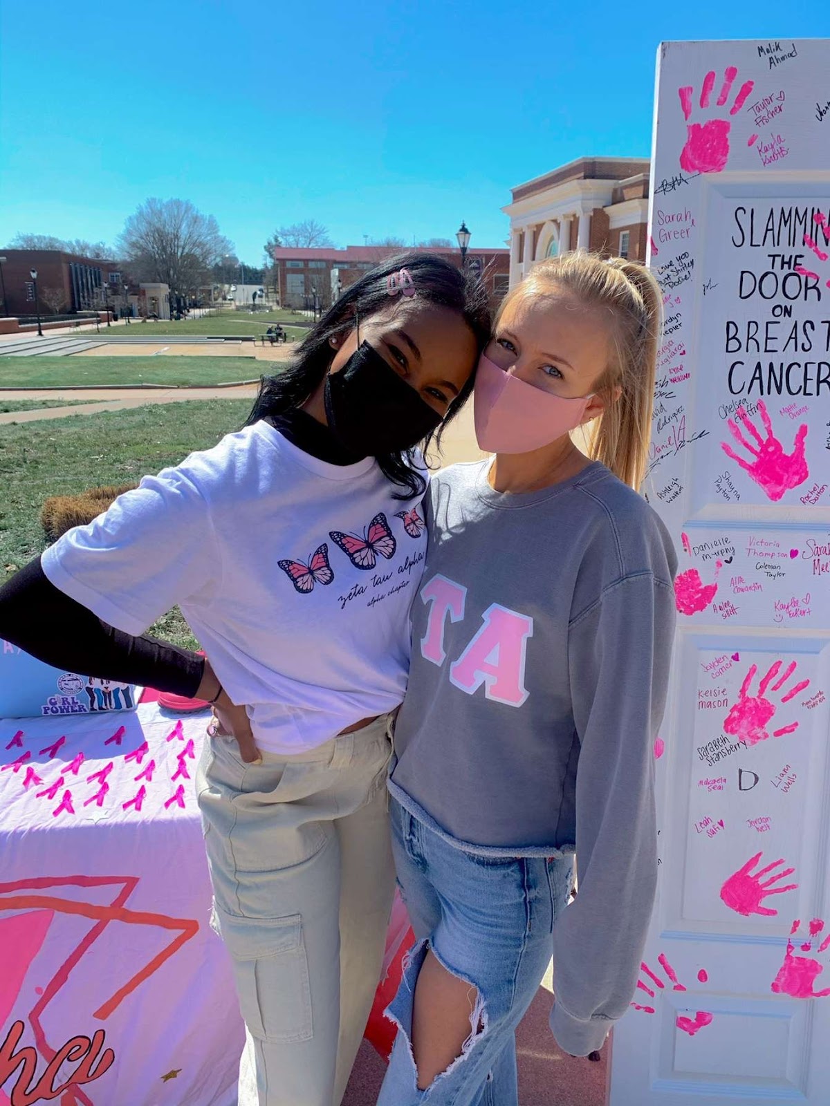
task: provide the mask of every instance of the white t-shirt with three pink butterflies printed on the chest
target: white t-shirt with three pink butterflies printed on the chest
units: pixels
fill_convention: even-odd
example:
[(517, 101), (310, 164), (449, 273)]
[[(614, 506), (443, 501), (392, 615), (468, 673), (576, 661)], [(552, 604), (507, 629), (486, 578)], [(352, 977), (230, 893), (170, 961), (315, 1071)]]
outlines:
[(43, 571), (133, 635), (178, 604), (257, 744), (301, 752), (403, 700), (426, 532), (396, 490), (257, 422), (145, 477)]

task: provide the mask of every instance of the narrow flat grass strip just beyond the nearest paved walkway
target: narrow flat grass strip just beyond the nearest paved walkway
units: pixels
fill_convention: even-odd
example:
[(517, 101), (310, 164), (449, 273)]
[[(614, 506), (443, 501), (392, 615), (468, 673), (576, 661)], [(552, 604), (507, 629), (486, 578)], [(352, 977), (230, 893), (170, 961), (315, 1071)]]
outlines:
[[(69, 388), (79, 384), (227, 384), (258, 380), (280, 362), (250, 357), (0, 357), (0, 387)], [(0, 398), (2, 398), (0, 396)], [(98, 396), (97, 398), (104, 398)]]

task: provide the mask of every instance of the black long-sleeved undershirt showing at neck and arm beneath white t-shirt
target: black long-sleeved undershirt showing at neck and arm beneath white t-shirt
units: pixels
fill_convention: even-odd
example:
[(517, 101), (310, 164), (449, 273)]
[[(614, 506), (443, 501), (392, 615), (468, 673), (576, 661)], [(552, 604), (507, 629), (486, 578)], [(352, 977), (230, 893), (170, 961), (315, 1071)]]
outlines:
[[(302, 410), (269, 419), (292, 445), (330, 465), (352, 465), (326, 426)], [(110, 626), (46, 578), (40, 557), (0, 587), (0, 638), (55, 668), (194, 698), (205, 658)]]

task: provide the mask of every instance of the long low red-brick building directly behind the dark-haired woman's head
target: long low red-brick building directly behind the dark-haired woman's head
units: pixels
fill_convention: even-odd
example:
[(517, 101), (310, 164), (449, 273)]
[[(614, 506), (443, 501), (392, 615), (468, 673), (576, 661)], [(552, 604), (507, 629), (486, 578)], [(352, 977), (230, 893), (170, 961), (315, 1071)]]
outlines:
[[(340, 292), (359, 280), (370, 269), (405, 247), (347, 246), (344, 250), (290, 249), (278, 247), (272, 251), (277, 298), (283, 307), (310, 307), (317, 294), (319, 306), (328, 307)], [(436, 247), (419, 252), (438, 253), (453, 264), (460, 265), (457, 248)], [(507, 291), (509, 279), (509, 250), (470, 248), (467, 265), (481, 274), (490, 299), (498, 303)]]

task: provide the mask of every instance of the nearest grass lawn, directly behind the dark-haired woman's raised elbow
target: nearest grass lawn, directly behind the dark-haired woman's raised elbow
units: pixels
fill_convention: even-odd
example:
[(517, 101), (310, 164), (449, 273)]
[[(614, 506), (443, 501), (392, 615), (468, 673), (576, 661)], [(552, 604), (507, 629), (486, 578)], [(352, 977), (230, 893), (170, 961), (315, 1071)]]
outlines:
[[(65, 358), (60, 358), (65, 359)], [(40, 510), (49, 495), (127, 483), (177, 465), (238, 430), (250, 404), (237, 399), (158, 404), (84, 418), (0, 427), (0, 582), (44, 549)], [(178, 611), (151, 633), (196, 644)]]

